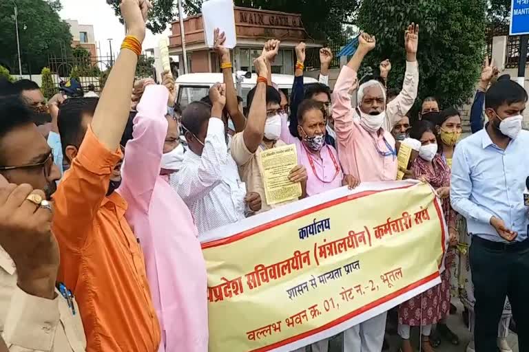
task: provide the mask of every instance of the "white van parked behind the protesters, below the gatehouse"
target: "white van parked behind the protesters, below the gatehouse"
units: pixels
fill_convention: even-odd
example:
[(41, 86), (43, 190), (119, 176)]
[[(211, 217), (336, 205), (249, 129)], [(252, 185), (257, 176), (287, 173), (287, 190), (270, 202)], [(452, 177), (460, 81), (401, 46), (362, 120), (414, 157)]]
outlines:
[[(257, 75), (250, 74), (244, 71), (237, 72), (237, 76), (242, 78), (241, 91), (243, 106), (246, 107), (246, 96), (248, 92), (256, 86)], [(310, 77), (304, 77), (304, 84), (318, 83), (318, 80)], [(179, 85), (178, 90), (178, 104), (181, 109), (184, 109), (190, 102), (200, 100), (209, 94), (209, 88), (217, 82), (223, 82), (222, 74), (184, 74), (176, 78), (176, 84)], [(234, 74), (234, 83), (236, 82), (236, 74)], [(278, 85), (278, 88), (283, 91), (288, 91), (289, 96), (292, 91), (294, 83), (294, 76), (288, 74), (272, 74), (272, 82)], [(236, 88), (237, 89), (237, 88)]]

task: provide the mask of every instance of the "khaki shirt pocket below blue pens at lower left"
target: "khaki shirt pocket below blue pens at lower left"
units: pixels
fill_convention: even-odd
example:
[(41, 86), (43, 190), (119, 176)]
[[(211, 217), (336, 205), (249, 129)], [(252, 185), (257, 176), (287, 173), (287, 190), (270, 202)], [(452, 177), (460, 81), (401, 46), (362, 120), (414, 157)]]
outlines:
[(61, 319), (61, 327), (68, 339), (68, 343), (74, 352), (85, 352), (86, 337), (85, 329), (83, 328), (83, 321), (79, 315), (79, 306), (75, 299), (73, 300), (75, 307), (75, 315), (70, 307), (68, 301), (61, 297), (59, 300), (59, 316)]

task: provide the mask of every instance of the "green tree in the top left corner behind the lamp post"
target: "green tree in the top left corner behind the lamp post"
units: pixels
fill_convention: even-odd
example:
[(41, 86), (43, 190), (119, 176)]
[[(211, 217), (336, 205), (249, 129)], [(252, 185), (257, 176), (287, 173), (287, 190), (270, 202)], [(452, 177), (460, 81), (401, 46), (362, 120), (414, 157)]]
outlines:
[[(58, 0), (16, 0), (20, 50), (24, 73), (39, 74), (48, 65), (48, 55), (70, 52), (72, 34), (68, 23), (56, 12)], [(50, 5), (51, 3), (51, 5)], [(18, 67), (17, 34), (12, 1), (0, 1), (0, 63)]]

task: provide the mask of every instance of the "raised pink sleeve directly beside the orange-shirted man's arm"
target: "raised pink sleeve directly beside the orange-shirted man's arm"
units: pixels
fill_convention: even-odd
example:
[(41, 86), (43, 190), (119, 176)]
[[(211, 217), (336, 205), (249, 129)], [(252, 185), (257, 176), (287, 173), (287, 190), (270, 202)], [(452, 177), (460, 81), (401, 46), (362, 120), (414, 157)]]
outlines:
[(169, 91), (163, 85), (145, 87), (133, 121), (132, 140), (125, 146), (121, 168), (123, 181), (119, 190), (127, 203), (136, 203), (145, 212), (160, 175), (160, 160), (167, 135), (168, 97)]

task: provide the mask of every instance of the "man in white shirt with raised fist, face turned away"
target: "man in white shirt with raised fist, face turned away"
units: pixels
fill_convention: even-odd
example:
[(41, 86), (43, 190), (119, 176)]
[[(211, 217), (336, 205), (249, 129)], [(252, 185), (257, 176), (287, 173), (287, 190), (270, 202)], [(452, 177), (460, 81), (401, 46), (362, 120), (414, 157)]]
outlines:
[[(257, 193), (246, 193), (227, 148), (224, 87), (209, 90), (212, 106), (192, 102), (182, 113), (189, 152), (171, 184), (194, 216), (200, 234), (245, 219), (261, 208)], [(248, 205), (248, 206), (247, 206)]]

